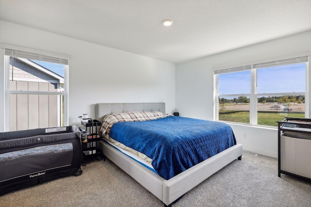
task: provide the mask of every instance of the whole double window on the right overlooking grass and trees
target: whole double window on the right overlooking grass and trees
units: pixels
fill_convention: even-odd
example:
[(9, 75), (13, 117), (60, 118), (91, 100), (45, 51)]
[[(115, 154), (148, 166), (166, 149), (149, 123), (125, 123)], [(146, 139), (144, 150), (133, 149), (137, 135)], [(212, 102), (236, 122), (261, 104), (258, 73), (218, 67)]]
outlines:
[(308, 67), (304, 56), (214, 71), (216, 120), (277, 126), (305, 118)]

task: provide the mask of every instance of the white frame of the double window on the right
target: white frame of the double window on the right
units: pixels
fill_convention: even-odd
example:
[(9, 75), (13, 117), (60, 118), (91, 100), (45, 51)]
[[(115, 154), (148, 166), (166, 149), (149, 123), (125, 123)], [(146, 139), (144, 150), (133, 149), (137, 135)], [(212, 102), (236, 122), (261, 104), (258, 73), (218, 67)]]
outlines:
[[(239, 124), (239, 125), (251, 125), (251, 126), (260, 126), (260, 127), (273, 127), (274, 126), (266, 126), (266, 125), (258, 125), (258, 97), (260, 96), (299, 96), (304, 95), (305, 96), (305, 118), (309, 118), (309, 97), (310, 97), (310, 90), (309, 90), (309, 80), (311, 80), (310, 73), (309, 73), (309, 66), (310, 66), (310, 55), (301, 55), (294, 58), (300, 58), (300, 57), (308, 57), (308, 61), (303, 62), (306, 64), (306, 91), (305, 92), (290, 92), (290, 93), (257, 93), (257, 67), (258, 64), (247, 64), (245, 66), (239, 66), (239, 67), (232, 67), (232, 68), (226, 68), (226, 69), (220, 69), (220, 70), (214, 70), (213, 71), (213, 79), (214, 79), (214, 121), (220, 121), (220, 122), (226, 122), (231, 124)], [(280, 61), (287, 60), (287, 59), (294, 59), (292, 58), (286, 58), (286, 59), (278, 59)], [(273, 60), (271, 62), (278, 62), (278, 60)], [(269, 61), (270, 62), (270, 61)], [(263, 62), (268, 63), (268, 62)], [(255, 65), (255, 67), (253, 67)], [(283, 64), (283, 65), (289, 65), (289, 64)], [(250, 66), (250, 68), (249, 68)], [(277, 65), (276, 65), (277, 66)], [(265, 66), (269, 67), (269, 66)], [(265, 68), (263, 67), (263, 68)], [(244, 69), (243, 69), (244, 68)], [(246, 69), (248, 68), (248, 69)], [(239, 70), (240, 69), (240, 70)], [(231, 73), (231, 72), (239, 72), (243, 70), (250, 70), (251, 71), (251, 93), (250, 94), (221, 94), (219, 95), (219, 74), (221, 73)], [(232, 96), (249, 96), (249, 102), (250, 102), (250, 120), (248, 123), (241, 123), (241, 122), (230, 122), (230, 121), (222, 121), (219, 120), (219, 97), (232, 97)]]

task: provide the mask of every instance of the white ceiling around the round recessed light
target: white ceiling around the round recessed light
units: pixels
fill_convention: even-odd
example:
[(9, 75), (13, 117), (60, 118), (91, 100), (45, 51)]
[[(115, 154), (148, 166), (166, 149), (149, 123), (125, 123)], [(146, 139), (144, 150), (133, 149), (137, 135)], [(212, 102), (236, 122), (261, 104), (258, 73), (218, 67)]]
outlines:
[(0, 0), (0, 19), (181, 63), (311, 30), (311, 0)]

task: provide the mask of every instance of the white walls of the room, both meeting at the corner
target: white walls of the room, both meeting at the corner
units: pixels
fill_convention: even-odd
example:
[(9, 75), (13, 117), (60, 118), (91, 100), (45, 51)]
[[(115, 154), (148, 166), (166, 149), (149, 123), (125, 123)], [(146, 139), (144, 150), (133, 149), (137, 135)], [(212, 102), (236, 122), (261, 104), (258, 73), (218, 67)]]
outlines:
[[(71, 56), (69, 125), (79, 124), (77, 117), (82, 113), (94, 117), (94, 104), (98, 102), (165, 102), (167, 113), (176, 109), (181, 116), (213, 120), (213, 70), (311, 54), (311, 31), (177, 64), (176, 71), (172, 63), (2, 20), (0, 43)], [(0, 56), (3, 57), (2, 49)], [(0, 97), (4, 97), (3, 58), (0, 71)], [(3, 98), (0, 117), (3, 131)], [(276, 129), (240, 125), (232, 128), (244, 150), (277, 156)], [(246, 139), (242, 139), (242, 132)]]

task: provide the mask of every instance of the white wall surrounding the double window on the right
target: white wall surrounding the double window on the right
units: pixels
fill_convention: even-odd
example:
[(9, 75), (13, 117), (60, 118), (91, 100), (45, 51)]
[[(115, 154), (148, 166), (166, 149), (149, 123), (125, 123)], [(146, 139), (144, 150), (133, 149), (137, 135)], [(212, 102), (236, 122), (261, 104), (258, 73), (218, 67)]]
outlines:
[[(311, 31), (307, 31), (177, 64), (176, 111), (181, 116), (214, 120), (213, 70), (310, 54)], [(243, 150), (277, 157), (276, 128), (231, 127)], [(246, 133), (246, 139), (242, 138), (242, 132)]]

